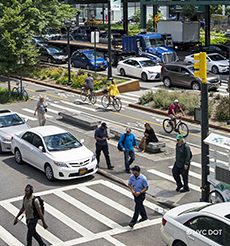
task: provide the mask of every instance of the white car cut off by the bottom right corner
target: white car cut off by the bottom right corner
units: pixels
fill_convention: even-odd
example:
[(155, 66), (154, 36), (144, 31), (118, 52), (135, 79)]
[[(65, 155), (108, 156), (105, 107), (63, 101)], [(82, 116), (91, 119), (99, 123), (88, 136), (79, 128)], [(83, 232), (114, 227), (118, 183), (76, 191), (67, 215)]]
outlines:
[(230, 246), (229, 203), (195, 202), (162, 218), (161, 237), (169, 246)]

